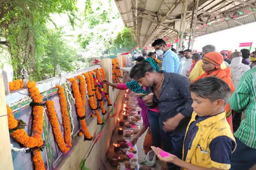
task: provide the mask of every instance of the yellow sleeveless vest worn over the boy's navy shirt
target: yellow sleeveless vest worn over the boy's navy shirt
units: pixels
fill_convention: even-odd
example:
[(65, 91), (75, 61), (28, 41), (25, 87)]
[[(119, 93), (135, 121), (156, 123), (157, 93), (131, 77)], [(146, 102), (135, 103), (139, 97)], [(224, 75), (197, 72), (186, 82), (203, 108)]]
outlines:
[[(209, 148), (211, 141), (219, 136), (227, 136), (235, 142), (235, 138), (233, 136), (233, 133), (231, 132), (229, 124), (226, 121), (225, 115), (226, 112), (222, 112), (196, 124), (196, 126), (198, 127), (198, 131), (194, 135), (194, 139), (191, 143), (190, 149), (187, 152), (186, 159), (183, 158), (183, 160), (205, 168), (215, 167), (219, 169), (230, 169), (230, 164), (218, 163), (211, 160)], [(196, 121), (196, 116), (197, 114), (193, 112), (186, 130), (186, 135), (191, 123)], [(234, 150), (235, 148), (232, 150), (232, 152), (234, 152)], [(182, 156), (184, 156), (184, 144)]]

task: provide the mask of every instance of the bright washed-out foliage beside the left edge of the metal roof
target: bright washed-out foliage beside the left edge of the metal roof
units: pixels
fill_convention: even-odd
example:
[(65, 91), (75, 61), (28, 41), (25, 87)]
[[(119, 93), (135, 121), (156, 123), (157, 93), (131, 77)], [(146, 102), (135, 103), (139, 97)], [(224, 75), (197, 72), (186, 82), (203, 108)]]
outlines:
[[(119, 30), (122, 21), (119, 13), (115, 14), (112, 11), (111, 0), (108, 2), (108, 9), (100, 2), (98, 0), (96, 8), (93, 8), (91, 0), (85, 2), (84, 20), (88, 23), (89, 29), (78, 35), (80, 46), (91, 51), (92, 56), (115, 55), (123, 51), (130, 51), (137, 46), (131, 29)], [(119, 22), (115, 23), (116, 21)], [(117, 30), (119, 32), (116, 32)]]

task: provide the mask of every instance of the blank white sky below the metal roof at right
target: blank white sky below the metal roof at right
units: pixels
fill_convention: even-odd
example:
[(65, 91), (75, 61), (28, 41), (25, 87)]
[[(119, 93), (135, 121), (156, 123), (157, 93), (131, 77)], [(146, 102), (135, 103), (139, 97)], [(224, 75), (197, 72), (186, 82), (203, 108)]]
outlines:
[(224, 49), (235, 51), (235, 49), (240, 50), (239, 43), (253, 42), (252, 52), (256, 47), (255, 28), (256, 22), (197, 37), (194, 49), (202, 51), (204, 45), (212, 44), (218, 52)]

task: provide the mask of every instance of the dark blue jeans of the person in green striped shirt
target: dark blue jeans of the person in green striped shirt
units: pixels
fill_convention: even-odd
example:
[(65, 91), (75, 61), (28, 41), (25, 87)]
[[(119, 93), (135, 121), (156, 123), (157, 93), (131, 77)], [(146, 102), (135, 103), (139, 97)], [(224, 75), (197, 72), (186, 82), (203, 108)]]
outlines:
[(256, 164), (256, 149), (236, 138), (236, 150), (232, 154), (230, 170), (248, 170), (254, 164)]

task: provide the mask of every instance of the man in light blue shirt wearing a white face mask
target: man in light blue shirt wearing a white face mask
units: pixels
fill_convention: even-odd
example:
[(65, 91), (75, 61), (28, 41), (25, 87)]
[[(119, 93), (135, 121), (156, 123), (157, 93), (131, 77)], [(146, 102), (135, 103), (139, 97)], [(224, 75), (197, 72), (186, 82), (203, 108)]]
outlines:
[(157, 39), (152, 43), (159, 56), (164, 54), (162, 70), (169, 73), (179, 73), (180, 59), (175, 52), (170, 50), (163, 39)]

